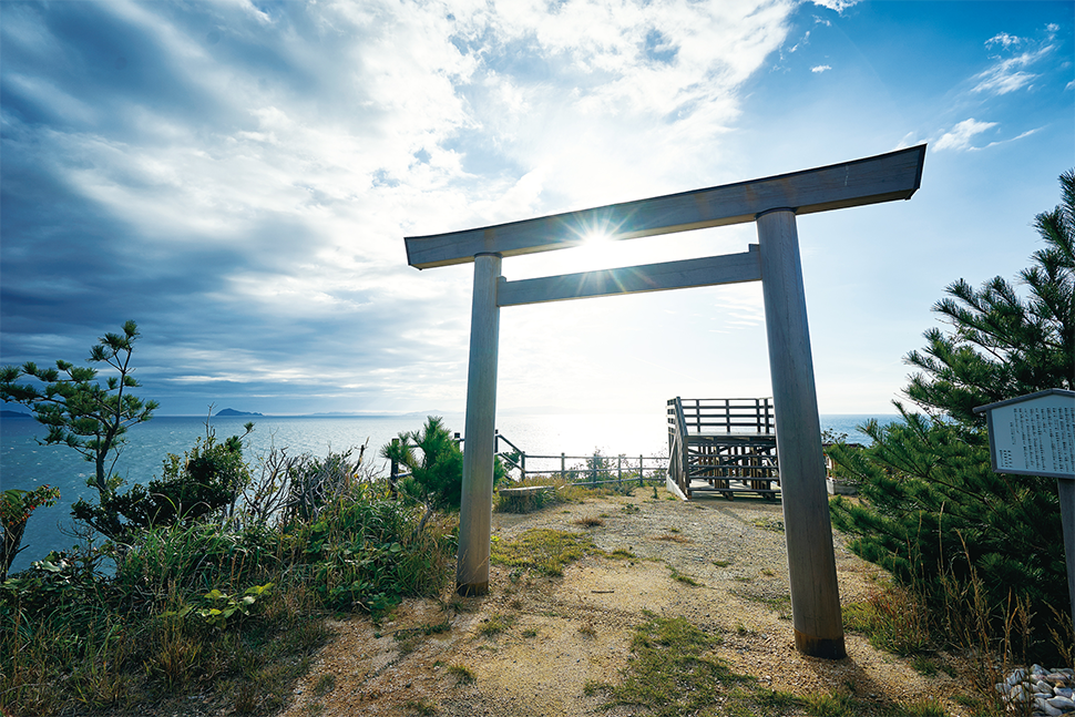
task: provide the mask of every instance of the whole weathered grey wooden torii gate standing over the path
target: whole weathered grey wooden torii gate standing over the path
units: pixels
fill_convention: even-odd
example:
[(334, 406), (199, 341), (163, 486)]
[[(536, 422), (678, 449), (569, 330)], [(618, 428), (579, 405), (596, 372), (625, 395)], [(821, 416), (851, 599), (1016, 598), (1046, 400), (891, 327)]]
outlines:
[[(764, 180), (463, 232), (406, 237), (407, 263), (419, 269), (474, 263), (458, 592), (482, 595), (489, 591), (500, 307), (760, 280), (795, 644), (807, 655), (844, 657), (795, 217), (908, 199), (921, 184), (924, 161), (923, 144)], [(501, 276), (503, 257), (576, 246), (595, 228), (614, 239), (631, 239), (746, 222), (757, 223), (758, 244), (743, 254), (519, 281)]]

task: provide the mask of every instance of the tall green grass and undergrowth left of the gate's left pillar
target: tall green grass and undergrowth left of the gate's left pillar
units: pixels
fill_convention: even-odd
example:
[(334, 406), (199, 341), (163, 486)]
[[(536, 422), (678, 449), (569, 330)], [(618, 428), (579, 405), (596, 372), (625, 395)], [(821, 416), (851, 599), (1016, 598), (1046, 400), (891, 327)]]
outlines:
[[(146, 530), (50, 554), (0, 585), (0, 708), (11, 717), (270, 713), (322, 644), (327, 611), (439, 593), (454, 522), (365, 480), (307, 519)], [(114, 572), (100, 570), (111, 557)]]

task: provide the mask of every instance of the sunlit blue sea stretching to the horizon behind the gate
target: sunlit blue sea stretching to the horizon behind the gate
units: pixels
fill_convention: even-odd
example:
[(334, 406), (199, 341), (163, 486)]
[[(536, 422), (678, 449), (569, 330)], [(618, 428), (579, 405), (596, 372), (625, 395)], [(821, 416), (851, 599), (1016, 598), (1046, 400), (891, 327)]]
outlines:
[[(462, 414), (444, 414), (446, 424), (462, 432)], [(882, 422), (897, 420), (897, 416), (822, 414), (821, 428), (836, 433), (847, 433), (852, 442), (869, 440), (856, 427), (870, 418)], [(322, 457), (329, 451), (357, 448), (369, 441), (366, 458), (387, 472), (385, 461), (378, 457), (380, 448), (402, 431), (418, 430), (424, 418), (405, 417), (167, 417), (133, 427), (127, 432), (115, 472), (129, 483), (145, 483), (161, 475), (161, 465), (168, 453), (182, 455), (206, 430), (218, 439), (242, 434), (243, 424), (254, 421), (255, 430), (246, 440), (245, 454), (252, 470), (258, 470), (258, 458), (272, 447), (286, 447), (289, 453), (309, 451)], [(501, 436), (530, 455), (569, 457), (603, 455), (621, 453), (638, 455), (665, 455), (667, 453), (666, 419), (663, 412), (624, 414), (540, 414), (504, 416), (498, 419)], [(206, 423), (208, 423), (208, 429)], [(93, 464), (82, 460), (73, 449), (65, 445), (40, 445), (45, 436), (43, 426), (32, 419), (0, 419), (0, 490), (20, 488), (31, 490), (50, 484), (60, 489), (60, 500), (51, 508), (34, 512), (27, 525), (22, 544), (25, 550), (16, 559), (12, 572), (25, 570), (30, 563), (41, 560), (51, 550), (64, 550), (76, 540), (72, 534), (71, 504), (80, 498), (93, 500), (94, 489), (85, 481), (93, 475)], [(504, 445), (501, 445), (504, 449)], [(580, 460), (574, 463), (581, 462)], [(528, 469), (559, 468), (555, 461), (541, 463), (528, 461)], [(569, 465), (572, 461), (569, 459)], [(647, 462), (648, 465), (648, 462)]]

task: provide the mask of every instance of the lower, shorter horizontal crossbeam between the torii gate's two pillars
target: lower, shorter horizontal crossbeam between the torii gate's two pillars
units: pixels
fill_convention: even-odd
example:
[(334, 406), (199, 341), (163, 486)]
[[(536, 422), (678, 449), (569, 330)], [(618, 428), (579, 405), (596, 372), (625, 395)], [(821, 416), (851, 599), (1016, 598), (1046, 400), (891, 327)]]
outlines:
[(520, 306), (594, 296), (666, 291), (716, 284), (738, 284), (760, 279), (761, 268), (758, 264), (758, 246), (752, 244), (750, 250), (743, 254), (543, 276), (519, 281), (504, 280), (500, 283), (496, 304), (498, 306)]

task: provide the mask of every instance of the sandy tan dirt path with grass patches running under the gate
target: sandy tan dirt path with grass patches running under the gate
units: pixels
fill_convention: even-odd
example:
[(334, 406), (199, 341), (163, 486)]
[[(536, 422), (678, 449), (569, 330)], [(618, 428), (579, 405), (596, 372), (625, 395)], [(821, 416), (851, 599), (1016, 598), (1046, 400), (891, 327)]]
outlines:
[[(493, 534), (500, 540), (534, 527), (569, 530), (587, 534), (608, 552), (627, 549), (638, 560), (586, 557), (555, 578), (494, 566), (488, 596), (411, 601), (379, 626), (365, 617), (334, 623), (336, 638), (285, 714), (635, 714), (637, 708), (601, 708), (603, 698), (586, 696), (584, 686), (616, 682), (631, 654), (632, 628), (646, 619), (646, 611), (682, 615), (720, 632), (719, 656), (775, 689), (799, 695), (851, 689), (876, 703), (946, 697), (961, 689), (943, 673), (919, 675), (908, 660), (880, 653), (857, 635), (847, 636), (843, 660), (795, 652), (779, 503), (683, 503), (667, 500), (664, 490), (657, 500), (649, 488), (635, 493), (526, 515), (494, 513)], [(874, 569), (837, 542), (841, 598), (861, 600)], [(414, 629), (446, 621), (450, 628), (437, 628), (443, 632)], [(961, 713), (950, 699), (943, 704), (949, 714)]]

